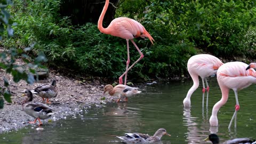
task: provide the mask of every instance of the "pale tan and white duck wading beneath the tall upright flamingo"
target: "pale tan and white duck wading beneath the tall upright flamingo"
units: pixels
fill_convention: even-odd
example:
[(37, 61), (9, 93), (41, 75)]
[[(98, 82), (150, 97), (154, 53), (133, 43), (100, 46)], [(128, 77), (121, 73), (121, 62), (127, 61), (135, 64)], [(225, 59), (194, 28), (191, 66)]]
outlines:
[(118, 95), (119, 99), (116, 102), (119, 102), (123, 97), (125, 97), (125, 101), (128, 101), (127, 97), (141, 93), (141, 91), (138, 91), (138, 89), (138, 87), (131, 87), (123, 84), (118, 84), (115, 87), (113, 87), (111, 84), (108, 84), (104, 87), (103, 94), (108, 92), (111, 96)]

